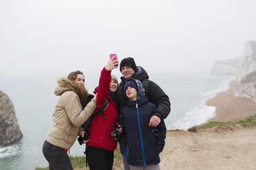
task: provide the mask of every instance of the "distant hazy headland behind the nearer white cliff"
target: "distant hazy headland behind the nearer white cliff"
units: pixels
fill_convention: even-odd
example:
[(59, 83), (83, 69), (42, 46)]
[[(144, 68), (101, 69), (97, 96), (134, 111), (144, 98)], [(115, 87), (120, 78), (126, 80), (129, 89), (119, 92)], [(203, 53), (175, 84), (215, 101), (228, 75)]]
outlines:
[(231, 60), (216, 61), (211, 69), (213, 75), (237, 75), (242, 57), (233, 58)]

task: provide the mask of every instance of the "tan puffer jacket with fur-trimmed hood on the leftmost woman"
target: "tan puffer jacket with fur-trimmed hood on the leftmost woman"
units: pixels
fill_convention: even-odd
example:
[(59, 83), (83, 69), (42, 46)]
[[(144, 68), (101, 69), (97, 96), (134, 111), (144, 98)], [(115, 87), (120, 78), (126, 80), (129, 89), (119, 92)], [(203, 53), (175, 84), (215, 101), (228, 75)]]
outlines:
[(63, 77), (58, 79), (55, 95), (61, 95), (52, 115), (52, 127), (46, 140), (52, 145), (69, 150), (76, 141), (79, 127), (91, 116), (96, 108), (96, 99), (87, 104), (83, 110), (76, 95), (76, 84)]

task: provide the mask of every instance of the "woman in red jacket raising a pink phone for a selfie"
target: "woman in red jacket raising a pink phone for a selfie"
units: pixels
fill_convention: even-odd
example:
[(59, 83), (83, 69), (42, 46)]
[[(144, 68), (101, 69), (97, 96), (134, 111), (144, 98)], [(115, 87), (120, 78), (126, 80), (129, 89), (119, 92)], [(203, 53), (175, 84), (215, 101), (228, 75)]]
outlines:
[(86, 158), (91, 170), (111, 170), (114, 161), (114, 150), (117, 142), (111, 136), (114, 124), (118, 122), (118, 106), (116, 89), (118, 79), (111, 75), (111, 70), (116, 69), (118, 60), (113, 61), (114, 57), (107, 62), (106, 66), (100, 73), (98, 88), (94, 91), (97, 93), (95, 114), (100, 108), (109, 101), (104, 114), (98, 114), (94, 117), (89, 127), (89, 141), (86, 147)]

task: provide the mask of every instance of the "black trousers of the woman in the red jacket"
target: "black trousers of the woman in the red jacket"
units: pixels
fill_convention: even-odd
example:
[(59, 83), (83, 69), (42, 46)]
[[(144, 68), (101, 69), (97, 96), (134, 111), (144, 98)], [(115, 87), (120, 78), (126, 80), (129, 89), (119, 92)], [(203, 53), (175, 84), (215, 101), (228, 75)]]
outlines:
[(114, 151), (87, 146), (86, 160), (90, 170), (111, 170), (114, 161)]

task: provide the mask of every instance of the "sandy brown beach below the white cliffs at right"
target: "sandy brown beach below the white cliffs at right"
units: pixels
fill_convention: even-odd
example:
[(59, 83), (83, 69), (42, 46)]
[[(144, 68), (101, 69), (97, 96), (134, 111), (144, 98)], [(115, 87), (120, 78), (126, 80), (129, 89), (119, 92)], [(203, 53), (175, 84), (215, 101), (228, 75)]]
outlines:
[(237, 84), (236, 80), (231, 81), (228, 90), (217, 93), (215, 97), (206, 101), (206, 106), (215, 107), (215, 117), (208, 122), (240, 121), (256, 115), (256, 101), (233, 95)]

